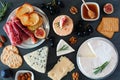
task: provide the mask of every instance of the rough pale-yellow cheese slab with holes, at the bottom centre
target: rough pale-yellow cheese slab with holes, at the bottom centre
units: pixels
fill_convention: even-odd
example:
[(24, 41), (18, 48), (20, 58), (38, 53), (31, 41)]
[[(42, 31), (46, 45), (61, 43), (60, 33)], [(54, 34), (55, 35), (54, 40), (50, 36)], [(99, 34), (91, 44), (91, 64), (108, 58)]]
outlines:
[(74, 68), (74, 64), (67, 57), (62, 56), (53, 69), (48, 72), (48, 77), (52, 80), (61, 80)]

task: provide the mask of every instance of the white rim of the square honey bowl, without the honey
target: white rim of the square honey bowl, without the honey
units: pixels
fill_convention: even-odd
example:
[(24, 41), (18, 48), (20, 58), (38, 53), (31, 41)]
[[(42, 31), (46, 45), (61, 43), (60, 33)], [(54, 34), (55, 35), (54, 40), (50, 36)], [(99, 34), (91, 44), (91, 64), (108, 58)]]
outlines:
[(84, 4), (82, 4), (81, 5), (81, 17), (82, 17), (82, 19), (85, 20), (85, 21), (95, 21), (95, 20), (98, 20), (99, 17), (100, 17), (100, 7), (99, 7), (98, 3), (96, 3), (96, 2), (86, 2), (86, 4), (96, 5), (97, 6), (97, 10), (98, 10), (98, 16), (96, 18), (94, 18), (94, 19), (84, 18), (84, 16), (83, 16), (83, 6), (84, 6)]

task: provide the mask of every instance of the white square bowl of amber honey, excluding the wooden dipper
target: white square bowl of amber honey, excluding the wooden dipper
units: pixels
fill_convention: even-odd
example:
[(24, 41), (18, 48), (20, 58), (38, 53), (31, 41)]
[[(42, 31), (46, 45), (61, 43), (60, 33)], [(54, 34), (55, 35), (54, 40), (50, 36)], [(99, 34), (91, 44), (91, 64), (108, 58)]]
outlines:
[[(95, 18), (89, 18), (88, 16), (88, 10), (86, 9), (84, 3), (81, 5), (81, 17), (83, 20), (85, 21), (95, 21), (98, 20), (100, 17), (100, 7), (98, 5), (98, 3), (96, 2), (86, 2), (86, 4), (88, 5), (88, 7), (90, 8), (90, 10), (92, 10), (93, 12), (95, 12), (96, 17)], [(83, 11), (84, 10), (84, 11)]]

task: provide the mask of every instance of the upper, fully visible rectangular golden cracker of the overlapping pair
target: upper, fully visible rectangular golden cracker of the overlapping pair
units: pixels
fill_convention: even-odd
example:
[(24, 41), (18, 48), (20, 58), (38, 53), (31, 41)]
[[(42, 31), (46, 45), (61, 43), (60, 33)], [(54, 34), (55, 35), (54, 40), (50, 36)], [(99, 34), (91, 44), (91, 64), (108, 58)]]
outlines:
[(102, 18), (102, 22), (103, 22), (103, 31), (112, 31), (112, 32), (119, 31), (118, 18), (104, 17)]

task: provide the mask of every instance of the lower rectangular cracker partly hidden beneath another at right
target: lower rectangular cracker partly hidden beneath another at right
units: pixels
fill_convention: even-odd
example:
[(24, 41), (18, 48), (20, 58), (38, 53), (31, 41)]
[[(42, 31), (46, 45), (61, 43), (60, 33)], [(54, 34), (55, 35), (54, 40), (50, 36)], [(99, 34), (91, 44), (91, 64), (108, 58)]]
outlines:
[(107, 38), (112, 38), (114, 35), (113, 31), (103, 31), (103, 21), (101, 21), (101, 23), (97, 27), (97, 31)]

